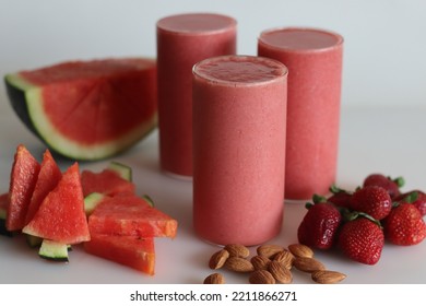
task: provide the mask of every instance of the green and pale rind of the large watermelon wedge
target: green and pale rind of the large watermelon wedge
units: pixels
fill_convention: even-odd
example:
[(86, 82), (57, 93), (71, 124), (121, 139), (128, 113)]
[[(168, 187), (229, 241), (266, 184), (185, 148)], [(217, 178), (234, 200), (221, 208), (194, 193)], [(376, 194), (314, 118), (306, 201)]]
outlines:
[(157, 127), (157, 113), (150, 120), (113, 141), (82, 144), (61, 134), (43, 109), (43, 89), (36, 86), (19, 73), (4, 76), (8, 95), (17, 116), (51, 150), (62, 156), (78, 161), (98, 161), (127, 151), (140, 140), (146, 138)]

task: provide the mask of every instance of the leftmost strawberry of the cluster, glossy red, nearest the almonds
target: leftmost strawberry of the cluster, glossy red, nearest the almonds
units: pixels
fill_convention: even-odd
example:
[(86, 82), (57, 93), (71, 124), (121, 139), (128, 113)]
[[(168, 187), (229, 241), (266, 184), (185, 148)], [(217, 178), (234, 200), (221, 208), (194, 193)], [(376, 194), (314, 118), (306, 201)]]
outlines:
[(297, 229), (299, 243), (319, 249), (331, 248), (342, 221), (340, 211), (327, 202), (307, 204), (307, 208)]

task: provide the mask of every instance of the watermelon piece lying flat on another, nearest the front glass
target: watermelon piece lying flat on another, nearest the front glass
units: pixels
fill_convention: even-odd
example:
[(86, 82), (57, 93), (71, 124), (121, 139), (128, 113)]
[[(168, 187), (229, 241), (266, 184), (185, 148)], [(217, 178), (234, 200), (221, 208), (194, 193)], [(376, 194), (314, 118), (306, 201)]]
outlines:
[(177, 221), (144, 199), (126, 195), (105, 198), (90, 215), (88, 228), (91, 234), (174, 238)]

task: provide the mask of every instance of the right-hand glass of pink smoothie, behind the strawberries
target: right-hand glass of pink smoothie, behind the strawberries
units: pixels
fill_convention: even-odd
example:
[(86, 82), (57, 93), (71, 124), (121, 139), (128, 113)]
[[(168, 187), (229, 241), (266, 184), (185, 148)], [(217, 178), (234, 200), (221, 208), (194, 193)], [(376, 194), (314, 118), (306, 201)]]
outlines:
[(269, 30), (258, 55), (288, 68), (285, 198), (326, 195), (336, 177), (343, 38), (317, 28)]

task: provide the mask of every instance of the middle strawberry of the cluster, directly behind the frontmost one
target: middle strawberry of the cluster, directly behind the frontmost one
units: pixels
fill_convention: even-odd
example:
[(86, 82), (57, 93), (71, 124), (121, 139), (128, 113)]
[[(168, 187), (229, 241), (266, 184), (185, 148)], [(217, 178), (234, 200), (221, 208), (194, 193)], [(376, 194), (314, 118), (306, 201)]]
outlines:
[(384, 188), (366, 186), (354, 192), (352, 209), (365, 212), (376, 220), (382, 220), (392, 209), (392, 199)]

